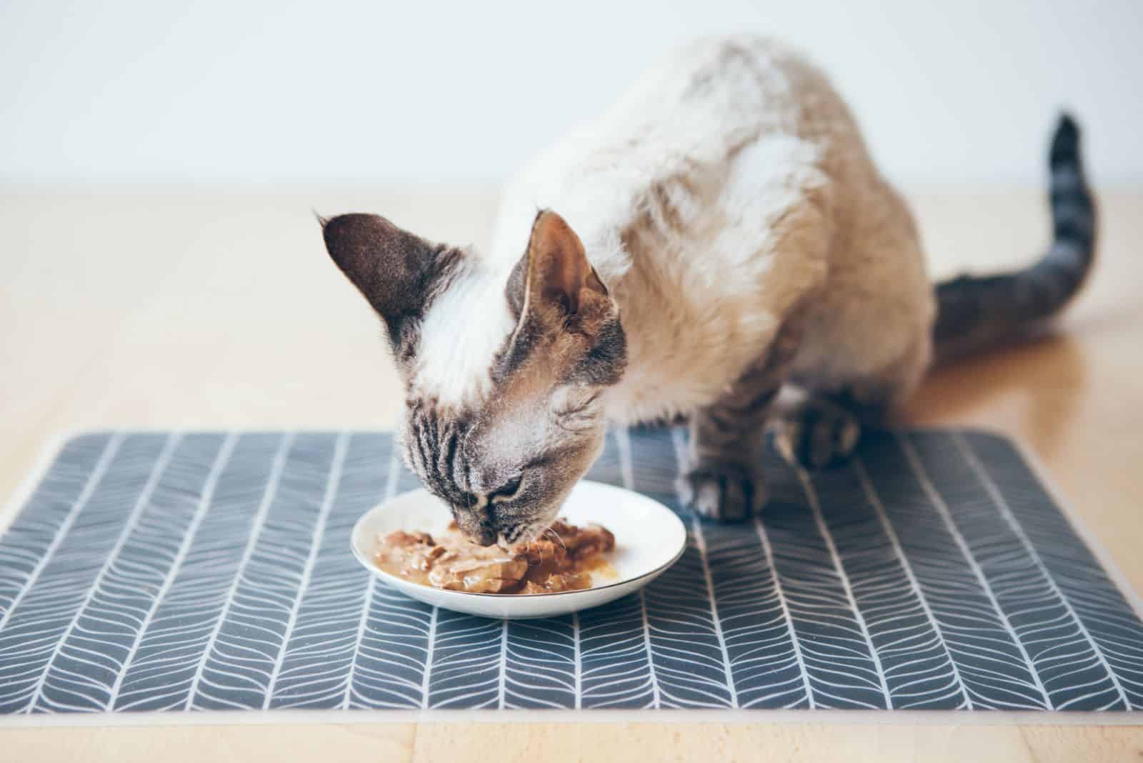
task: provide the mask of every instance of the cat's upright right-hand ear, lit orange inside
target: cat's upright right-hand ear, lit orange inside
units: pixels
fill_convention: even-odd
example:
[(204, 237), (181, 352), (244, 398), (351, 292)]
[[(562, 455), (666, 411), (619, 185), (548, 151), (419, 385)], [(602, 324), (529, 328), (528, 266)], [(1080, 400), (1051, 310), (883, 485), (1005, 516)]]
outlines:
[(512, 268), (507, 299), (520, 323), (590, 330), (613, 303), (588, 262), (583, 242), (562, 217), (542, 210), (531, 224), (528, 249)]

